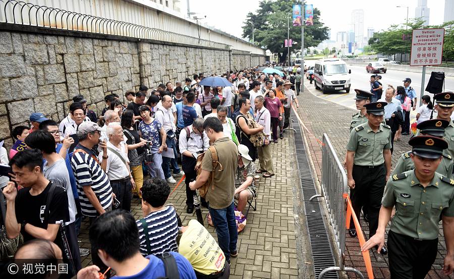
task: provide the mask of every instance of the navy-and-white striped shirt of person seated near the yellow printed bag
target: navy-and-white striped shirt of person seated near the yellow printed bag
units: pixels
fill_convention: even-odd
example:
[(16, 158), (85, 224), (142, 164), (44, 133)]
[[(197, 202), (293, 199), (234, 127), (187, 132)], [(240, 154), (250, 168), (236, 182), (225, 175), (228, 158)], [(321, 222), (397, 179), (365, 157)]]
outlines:
[(173, 206), (166, 206), (162, 210), (151, 212), (144, 219), (148, 225), (151, 253), (147, 253), (145, 232), (142, 227), (142, 221), (139, 219), (136, 224), (139, 229), (140, 253), (142, 255), (160, 255), (171, 251), (178, 252), (177, 212)]

